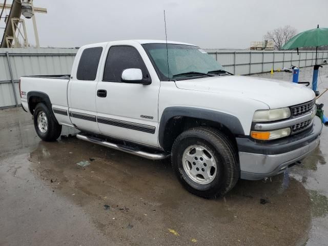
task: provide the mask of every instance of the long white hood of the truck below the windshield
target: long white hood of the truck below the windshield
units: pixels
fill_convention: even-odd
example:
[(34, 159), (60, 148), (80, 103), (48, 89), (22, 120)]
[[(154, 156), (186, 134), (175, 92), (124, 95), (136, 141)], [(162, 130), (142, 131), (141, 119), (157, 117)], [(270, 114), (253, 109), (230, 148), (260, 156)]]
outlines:
[(179, 89), (224, 93), (262, 101), (271, 109), (289, 107), (315, 98), (303, 85), (252, 76), (215, 76), (175, 81)]

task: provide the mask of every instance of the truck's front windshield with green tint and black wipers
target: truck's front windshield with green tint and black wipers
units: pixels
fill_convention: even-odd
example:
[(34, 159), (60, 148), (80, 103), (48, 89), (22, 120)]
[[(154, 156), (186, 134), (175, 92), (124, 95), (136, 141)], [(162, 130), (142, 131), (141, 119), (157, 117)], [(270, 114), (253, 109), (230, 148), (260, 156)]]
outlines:
[(224, 73), (223, 67), (211, 55), (196, 46), (168, 44), (168, 53), (166, 44), (142, 46), (151, 58), (161, 80), (204, 77), (209, 72)]

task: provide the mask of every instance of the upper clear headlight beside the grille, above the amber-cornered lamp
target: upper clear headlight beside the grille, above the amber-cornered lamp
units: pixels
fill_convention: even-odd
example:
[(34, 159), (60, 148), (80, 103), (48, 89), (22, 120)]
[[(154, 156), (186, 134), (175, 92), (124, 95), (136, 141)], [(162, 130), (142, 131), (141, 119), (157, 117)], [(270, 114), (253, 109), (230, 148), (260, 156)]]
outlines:
[(253, 116), (253, 122), (267, 122), (291, 117), (289, 108), (257, 110)]

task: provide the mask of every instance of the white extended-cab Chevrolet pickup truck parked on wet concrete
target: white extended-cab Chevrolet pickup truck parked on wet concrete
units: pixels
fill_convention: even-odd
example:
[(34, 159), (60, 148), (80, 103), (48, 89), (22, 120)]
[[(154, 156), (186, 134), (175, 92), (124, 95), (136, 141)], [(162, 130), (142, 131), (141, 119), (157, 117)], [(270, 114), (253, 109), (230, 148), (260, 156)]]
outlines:
[(21, 77), (20, 95), (43, 140), (63, 125), (95, 144), (171, 156), (182, 185), (207, 198), (284, 172), (322, 131), (311, 89), (234, 76), (199, 47), (162, 40), (81, 47), (70, 75)]

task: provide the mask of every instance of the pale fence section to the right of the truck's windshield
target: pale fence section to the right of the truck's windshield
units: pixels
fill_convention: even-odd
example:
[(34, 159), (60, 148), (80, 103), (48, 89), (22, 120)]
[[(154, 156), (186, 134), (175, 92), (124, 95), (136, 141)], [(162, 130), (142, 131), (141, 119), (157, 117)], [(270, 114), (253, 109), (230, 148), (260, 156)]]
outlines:
[[(315, 65), (315, 51), (244, 51), (244, 50), (206, 50), (228, 72), (236, 75), (269, 72), (297, 67), (309, 67)], [(326, 64), (328, 51), (318, 51), (317, 64)]]

